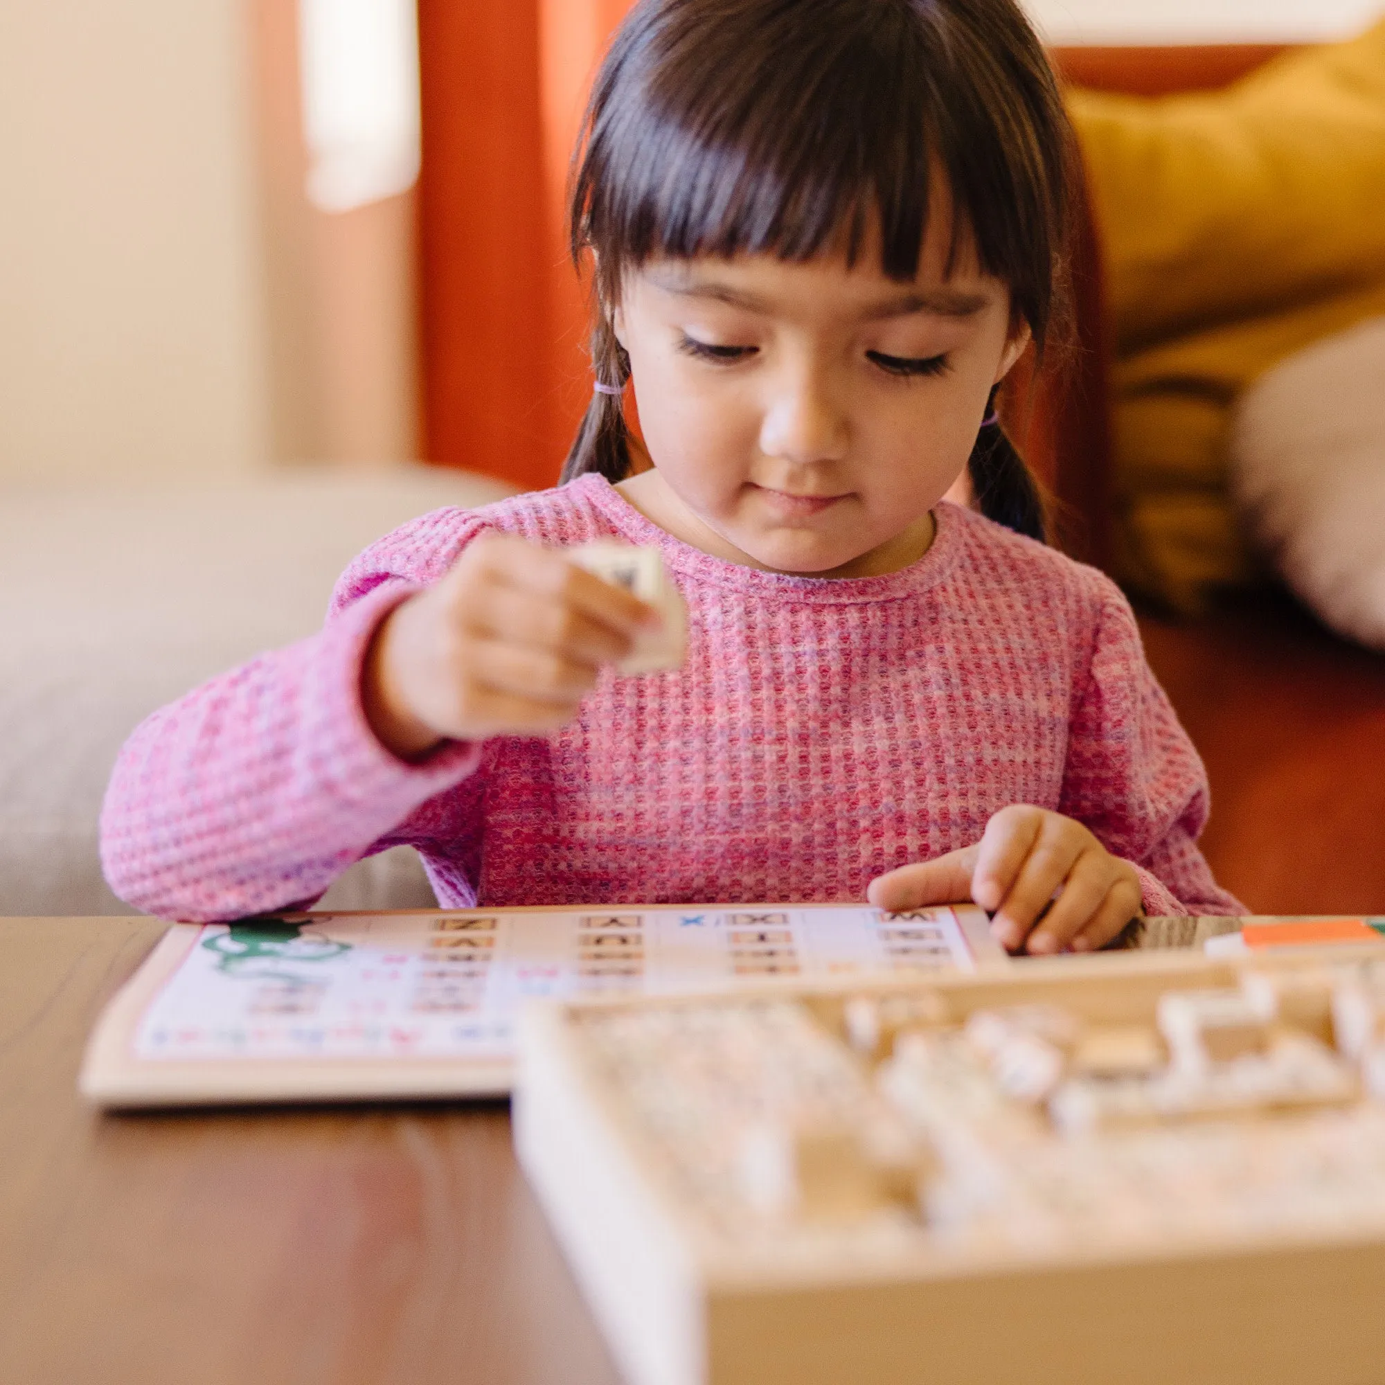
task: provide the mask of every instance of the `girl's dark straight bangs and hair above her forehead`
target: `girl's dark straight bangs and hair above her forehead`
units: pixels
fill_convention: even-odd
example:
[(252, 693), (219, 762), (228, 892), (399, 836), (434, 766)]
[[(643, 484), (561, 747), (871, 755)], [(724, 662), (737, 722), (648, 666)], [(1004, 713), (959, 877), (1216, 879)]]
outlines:
[(886, 274), (917, 274), (942, 151), (897, 0), (688, 6), (684, 25), (665, 4), (658, 32), (641, 8), (655, 7), (632, 14), (593, 96), (573, 253), (593, 247), (612, 274), (655, 256), (855, 263), (873, 235)]

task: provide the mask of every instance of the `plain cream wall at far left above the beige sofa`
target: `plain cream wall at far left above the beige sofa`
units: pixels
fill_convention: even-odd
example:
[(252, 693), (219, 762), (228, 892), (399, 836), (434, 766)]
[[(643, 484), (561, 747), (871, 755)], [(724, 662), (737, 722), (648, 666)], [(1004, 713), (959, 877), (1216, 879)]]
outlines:
[(240, 0), (0, 4), (0, 478), (269, 456)]

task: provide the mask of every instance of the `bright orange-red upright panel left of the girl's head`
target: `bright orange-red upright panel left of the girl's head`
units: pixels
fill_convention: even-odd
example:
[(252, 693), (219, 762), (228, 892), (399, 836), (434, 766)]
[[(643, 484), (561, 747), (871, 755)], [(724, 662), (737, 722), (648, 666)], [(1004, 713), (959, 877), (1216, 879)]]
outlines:
[(422, 436), (550, 486), (591, 392), (565, 252), (568, 159), (630, 0), (420, 0)]

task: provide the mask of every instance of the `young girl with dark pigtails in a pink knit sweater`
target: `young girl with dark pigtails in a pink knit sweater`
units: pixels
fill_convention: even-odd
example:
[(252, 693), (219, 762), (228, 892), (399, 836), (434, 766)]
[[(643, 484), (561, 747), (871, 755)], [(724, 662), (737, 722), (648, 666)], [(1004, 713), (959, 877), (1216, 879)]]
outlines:
[[(320, 634), (141, 726), (112, 886), (235, 918), (406, 842), (453, 907), (970, 895), (1036, 953), (1238, 911), (1130, 609), (992, 413), (1061, 306), (1069, 141), (1012, 0), (641, 0), (573, 184), (564, 485), (406, 525)], [(615, 674), (656, 616), (589, 540), (659, 547), (681, 669)]]

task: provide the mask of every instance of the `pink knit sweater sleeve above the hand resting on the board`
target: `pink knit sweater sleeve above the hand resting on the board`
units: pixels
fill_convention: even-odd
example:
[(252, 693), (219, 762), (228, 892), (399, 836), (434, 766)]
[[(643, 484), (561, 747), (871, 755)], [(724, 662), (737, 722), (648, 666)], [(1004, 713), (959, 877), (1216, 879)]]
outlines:
[(1105, 580), (1058, 810), (1136, 867), (1147, 914), (1245, 913), (1198, 850), (1208, 819), (1202, 760), (1145, 662), (1129, 602)]

